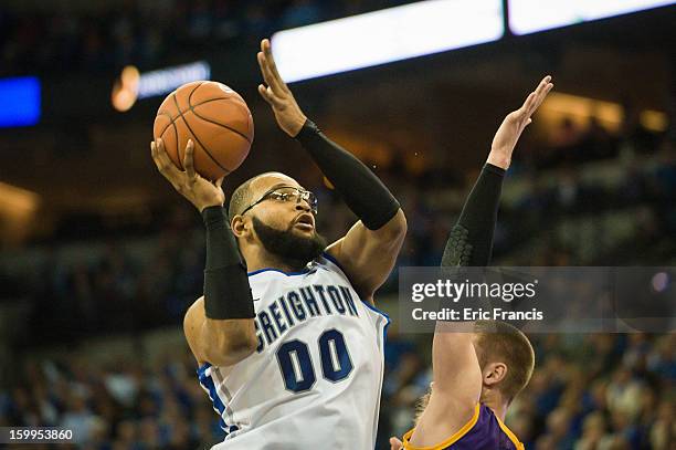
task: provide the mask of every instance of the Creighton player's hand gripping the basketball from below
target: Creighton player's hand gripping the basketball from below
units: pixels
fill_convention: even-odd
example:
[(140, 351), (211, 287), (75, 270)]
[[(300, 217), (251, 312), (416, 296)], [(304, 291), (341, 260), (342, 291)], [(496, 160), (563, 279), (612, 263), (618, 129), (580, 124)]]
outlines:
[(171, 182), (179, 193), (190, 200), (200, 212), (208, 207), (223, 206), (225, 201), (225, 195), (221, 189), (223, 177), (219, 178), (213, 184), (200, 177), (200, 175), (194, 171), (193, 153), (194, 144), (192, 139), (189, 139), (183, 157), (183, 167), (186, 168), (183, 171), (176, 167), (173, 163), (171, 163), (171, 159), (169, 159), (162, 139), (158, 138), (157, 143), (150, 143), (150, 154), (160, 174)]

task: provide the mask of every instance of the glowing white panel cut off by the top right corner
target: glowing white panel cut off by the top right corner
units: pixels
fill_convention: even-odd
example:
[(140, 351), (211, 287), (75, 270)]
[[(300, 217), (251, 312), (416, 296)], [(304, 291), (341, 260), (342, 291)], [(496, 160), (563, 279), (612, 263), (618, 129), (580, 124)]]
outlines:
[(673, 0), (509, 0), (509, 29), (528, 34), (674, 4)]

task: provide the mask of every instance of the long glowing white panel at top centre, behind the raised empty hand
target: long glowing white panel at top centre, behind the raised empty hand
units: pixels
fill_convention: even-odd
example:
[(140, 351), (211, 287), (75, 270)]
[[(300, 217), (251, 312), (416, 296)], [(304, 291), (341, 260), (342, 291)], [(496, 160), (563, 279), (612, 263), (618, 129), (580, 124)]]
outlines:
[(331, 20), (272, 36), (287, 82), (496, 41), (501, 0), (430, 0)]

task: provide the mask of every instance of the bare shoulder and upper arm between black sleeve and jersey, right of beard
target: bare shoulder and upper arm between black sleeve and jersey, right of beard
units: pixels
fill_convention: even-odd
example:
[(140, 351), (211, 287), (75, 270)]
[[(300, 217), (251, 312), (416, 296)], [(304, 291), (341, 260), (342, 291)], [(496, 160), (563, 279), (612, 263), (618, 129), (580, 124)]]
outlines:
[(355, 223), (345, 237), (327, 249), (340, 262), (363, 300), (372, 301), (376, 290), (390, 275), (406, 234), (406, 227), (403, 210), (399, 209), (378, 230), (369, 230), (361, 221)]

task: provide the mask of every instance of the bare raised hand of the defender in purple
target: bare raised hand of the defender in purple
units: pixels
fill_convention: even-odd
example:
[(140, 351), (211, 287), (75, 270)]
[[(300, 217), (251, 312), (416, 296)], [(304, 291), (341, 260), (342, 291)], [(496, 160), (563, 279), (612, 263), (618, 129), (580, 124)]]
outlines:
[(493, 138), (488, 163), (504, 169), (509, 167), (511, 153), (521, 133), (530, 125), (532, 122), (532, 114), (537, 111), (542, 101), (545, 101), (545, 97), (547, 97), (547, 94), (549, 94), (552, 87), (551, 76), (545, 76), (540, 84), (538, 84), (538, 87), (528, 95), (521, 107), (507, 114), (507, 117), (505, 117)]

